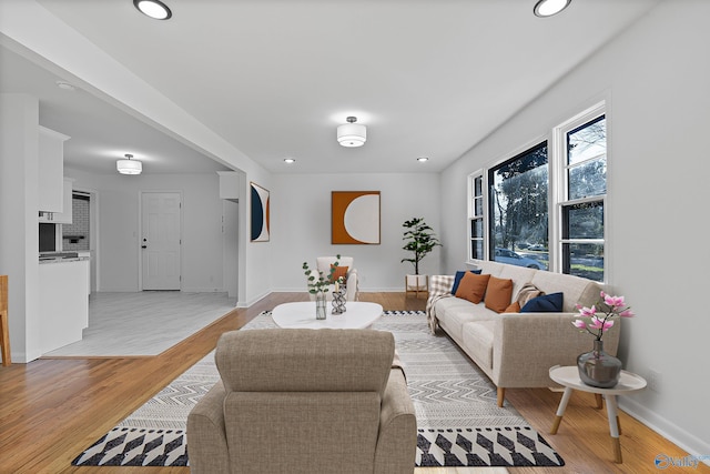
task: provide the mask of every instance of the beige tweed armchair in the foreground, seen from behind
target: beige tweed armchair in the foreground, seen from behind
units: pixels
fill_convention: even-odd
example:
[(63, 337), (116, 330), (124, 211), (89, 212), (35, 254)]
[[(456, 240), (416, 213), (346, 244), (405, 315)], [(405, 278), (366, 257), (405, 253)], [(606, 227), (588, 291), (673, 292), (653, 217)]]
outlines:
[(405, 474), (417, 426), (395, 342), (374, 330), (223, 334), (187, 416), (193, 474)]

